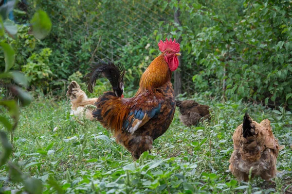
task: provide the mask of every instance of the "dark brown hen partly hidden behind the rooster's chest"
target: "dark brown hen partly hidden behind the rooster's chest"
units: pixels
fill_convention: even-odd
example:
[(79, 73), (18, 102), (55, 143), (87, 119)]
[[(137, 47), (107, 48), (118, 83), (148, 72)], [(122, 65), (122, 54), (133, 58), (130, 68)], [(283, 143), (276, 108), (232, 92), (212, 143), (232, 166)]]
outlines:
[(210, 107), (194, 100), (176, 100), (175, 105), (180, 108), (180, 119), (186, 126), (197, 125), (201, 118), (210, 118)]

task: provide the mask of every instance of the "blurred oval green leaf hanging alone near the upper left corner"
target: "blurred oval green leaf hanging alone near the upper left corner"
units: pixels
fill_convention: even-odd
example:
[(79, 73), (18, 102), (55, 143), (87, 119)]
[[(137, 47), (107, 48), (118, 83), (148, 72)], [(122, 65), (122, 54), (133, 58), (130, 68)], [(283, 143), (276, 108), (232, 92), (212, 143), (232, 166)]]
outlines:
[(43, 39), (46, 37), (52, 28), (52, 22), (46, 12), (38, 10), (34, 14), (32, 20), (32, 34), (38, 39)]

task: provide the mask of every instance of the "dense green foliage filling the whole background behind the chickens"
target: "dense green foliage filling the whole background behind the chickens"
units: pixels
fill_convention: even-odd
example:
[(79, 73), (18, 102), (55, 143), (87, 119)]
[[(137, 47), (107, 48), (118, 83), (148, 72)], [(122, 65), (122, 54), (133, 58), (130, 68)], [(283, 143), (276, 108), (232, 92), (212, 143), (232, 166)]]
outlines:
[[(31, 78), (33, 89), (44, 93), (57, 89), (54, 94), (60, 95), (69, 76), (79, 72), (81, 78), (95, 57), (109, 58), (126, 67), (125, 85), (132, 91), (159, 54), (158, 40), (181, 37), (183, 92), (291, 109), (291, 4), (148, 0), (146, 6), (127, 0), (29, 0), (28, 15), (38, 8), (46, 10), (53, 18), (52, 33), (39, 42), (21, 27), (18, 41), (12, 42), (15, 68), (27, 75), (36, 73)], [(175, 11), (180, 12), (180, 24), (174, 20)], [(16, 18), (24, 22), (22, 15)], [(23, 44), (26, 50), (21, 50)], [(42, 49), (51, 50), (45, 65)]]

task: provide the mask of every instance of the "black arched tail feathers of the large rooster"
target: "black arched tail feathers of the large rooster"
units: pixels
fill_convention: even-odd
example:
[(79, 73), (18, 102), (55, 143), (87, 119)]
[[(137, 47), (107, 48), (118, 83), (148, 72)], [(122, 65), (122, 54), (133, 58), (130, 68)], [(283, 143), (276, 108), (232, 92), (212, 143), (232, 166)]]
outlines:
[(114, 65), (112, 62), (107, 60), (107, 62), (98, 59), (98, 62), (92, 63), (89, 68), (91, 71), (84, 78), (87, 80), (87, 88), (89, 92), (93, 92), (93, 87), (95, 86), (96, 79), (101, 74), (106, 77), (112, 86), (112, 90), (117, 97), (121, 97), (124, 92), (124, 75), (125, 69), (121, 64)]

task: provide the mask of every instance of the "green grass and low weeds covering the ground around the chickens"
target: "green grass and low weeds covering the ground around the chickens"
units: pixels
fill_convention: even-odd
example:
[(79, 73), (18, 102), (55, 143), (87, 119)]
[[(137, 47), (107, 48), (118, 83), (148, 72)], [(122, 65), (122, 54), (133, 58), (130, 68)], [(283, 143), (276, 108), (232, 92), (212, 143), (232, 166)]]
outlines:
[[(136, 162), (98, 122), (73, 119), (68, 101), (35, 101), (21, 110), (10, 162), (40, 179), (44, 193), (280, 194), (285, 188), (292, 190), (290, 112), (195, 99), (212, 107), (212, 120), (188, 128), (180, 123), (177, 110), (170, 128), (154, 141), (151, 154), (145, 152)], [(276, 184), (260, 178), (239, 184), (228, 171), (232, 134), (245, 112), (257, 122), (268, 118), (275, 137), (285, 145), (278, 157)], [(0, 187), (5, 193), (21, 190), (23, 185), (5, 178), (6, 173), (1, 167)]]

